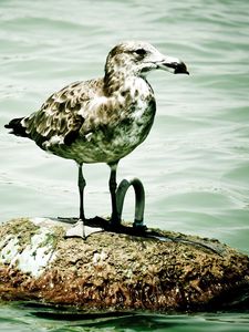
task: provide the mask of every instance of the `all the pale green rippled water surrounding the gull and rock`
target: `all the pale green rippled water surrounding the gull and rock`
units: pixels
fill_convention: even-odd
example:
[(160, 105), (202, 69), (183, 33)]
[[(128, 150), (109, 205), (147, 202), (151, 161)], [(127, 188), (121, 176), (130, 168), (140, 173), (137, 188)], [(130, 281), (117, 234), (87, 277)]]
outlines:
[[(121, 162), (139, 177), (148, 226), (215, 237), (249, 253), (249, 2), (247, 0), (1, 0), (0, 220), (76, 216), (76, 167), (3, 129), (54, 91), (103, 74), (121, 40), (146, 40), (181, 58), (190, 76), (152, 73), (153, 129)], [(86, 165), (86, 215), (108, 215), (108, 168)], [(125, 201), (132, 219), (134, 201)], [(1, 331), (249, 331), (248, 311), (75, 320), (0, 307)]]

